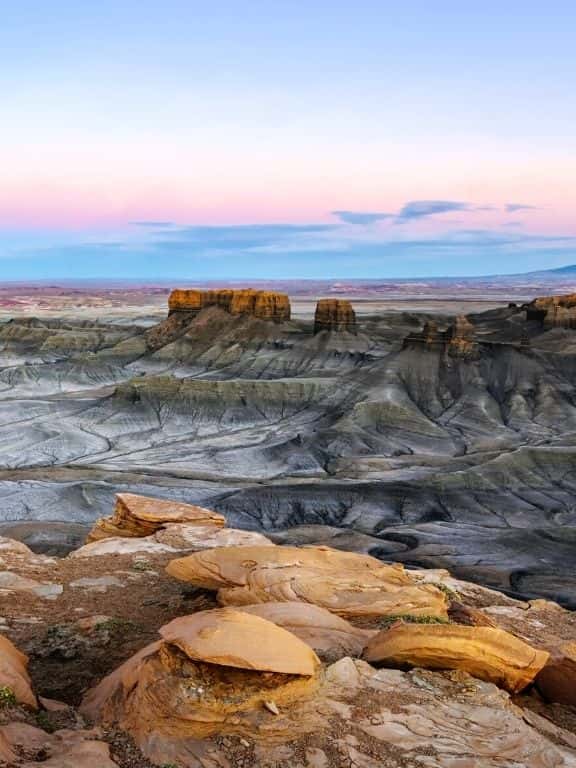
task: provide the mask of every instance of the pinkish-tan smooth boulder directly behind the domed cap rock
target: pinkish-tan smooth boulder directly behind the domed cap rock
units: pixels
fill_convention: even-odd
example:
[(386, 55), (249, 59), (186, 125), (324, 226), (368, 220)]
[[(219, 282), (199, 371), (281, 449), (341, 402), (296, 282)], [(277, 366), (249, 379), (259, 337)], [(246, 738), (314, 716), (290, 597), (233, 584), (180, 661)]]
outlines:
[(312, 648), (323, 661), (360, 656), (374, 630), (359, 629), (318, 605), (264, 603), (239, 610), (272, 621), (292, 632)]

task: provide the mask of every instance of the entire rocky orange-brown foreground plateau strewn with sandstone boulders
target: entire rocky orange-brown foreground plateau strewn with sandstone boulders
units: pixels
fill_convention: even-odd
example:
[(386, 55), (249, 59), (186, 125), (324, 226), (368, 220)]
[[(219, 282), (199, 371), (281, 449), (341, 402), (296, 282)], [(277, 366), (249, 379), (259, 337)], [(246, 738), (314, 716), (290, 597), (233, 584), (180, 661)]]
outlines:
[(0, 538), (1, 766), (576, 766), (557, 603), (197, 505), (109, 511), (65, 557)]

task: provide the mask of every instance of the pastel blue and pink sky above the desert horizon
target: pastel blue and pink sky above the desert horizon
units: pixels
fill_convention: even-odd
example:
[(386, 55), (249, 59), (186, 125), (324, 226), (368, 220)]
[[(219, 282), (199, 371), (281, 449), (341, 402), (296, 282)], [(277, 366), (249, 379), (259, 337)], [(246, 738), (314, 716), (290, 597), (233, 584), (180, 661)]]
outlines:
[(573, 0), (0, 0), (0, 281), (576, 263)]

